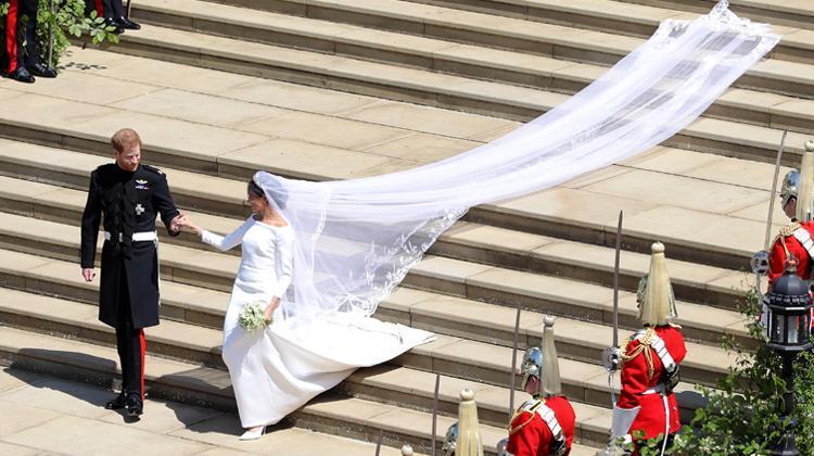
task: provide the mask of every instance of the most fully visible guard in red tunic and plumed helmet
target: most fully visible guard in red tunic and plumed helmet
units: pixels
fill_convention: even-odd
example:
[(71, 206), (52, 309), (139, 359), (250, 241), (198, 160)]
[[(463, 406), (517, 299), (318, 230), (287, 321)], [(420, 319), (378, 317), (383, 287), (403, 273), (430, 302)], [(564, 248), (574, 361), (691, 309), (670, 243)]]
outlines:
[(687, 355), (666, 271), (664, 245), (652, 244), (650, 273), (639, 282), (637, 302), (644, 328), (621, 346), (622, 391), (613, 407), (611, 445), (664, 436), (662, 454), (681, 429), (673, 388)]

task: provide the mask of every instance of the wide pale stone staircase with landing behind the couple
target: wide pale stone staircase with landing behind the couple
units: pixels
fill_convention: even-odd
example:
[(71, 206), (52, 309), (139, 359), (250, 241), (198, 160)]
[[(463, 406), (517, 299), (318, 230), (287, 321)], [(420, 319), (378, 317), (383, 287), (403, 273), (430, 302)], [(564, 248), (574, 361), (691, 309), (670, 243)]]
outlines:
[[(489, 141), (580, 90), (650, 34), (708, 1), (137, 0), (142, 30), (107, 52), (73, 48), (55, 80), (0, 85), (0, 358), (110, 385), (111, 328), (96, 318), (97, 283), (78, 274), (78, 221), (109, 137), (132, 126), (145, 161), (166, 172), (176, 203), (218, 232), (246, 216), (258, 168), (325, 180), (400, 170)], [(291, 417), (296, 426), (429, 452), (436, 376), (440, 442), (458, 391), (475, 390), (484, 443), (505, 436), (511, 344), (539, 343), (557, 315), (574, 454), (607, 439), (610, 393), (599, 354), (611, 339), (615, 218), (625, 211), (623, 337), (637, 325), (636, 283), (653, 240), (667, 245), (689, 355), (682, 415), (700, 404), (749, 345), (737, 312), (761, 248), (773, 162), (814, 128), (814, 37), (800, 5), (735, 1), (783, 21), (771, 59), (703, 117), (652, 151), (558, 188), (475, 207), (383, 302), (379, 318), (438, 334), (360, 369)], [(789, 4), (791, 1), (789, 1)], [(810, 11), (809, 11), (810, 10)], [(620, 31), (621, 30), (621, 31)], [(291, 84), (294, 83), (294, 84)], [(785, 169), (784, 169), (785, 172)], [(775, 224), (784, 216), (776, 210)], [(161, 230), (160, 230), (161, 233)], [(148, 331), (151, 394), (233, 409), (220, 331), (239, 251), (162, 233), (162, 325)], [(514, 356), (520, 358), (522, 354)], [(521, 401), (522, 392), (516, 401)]]

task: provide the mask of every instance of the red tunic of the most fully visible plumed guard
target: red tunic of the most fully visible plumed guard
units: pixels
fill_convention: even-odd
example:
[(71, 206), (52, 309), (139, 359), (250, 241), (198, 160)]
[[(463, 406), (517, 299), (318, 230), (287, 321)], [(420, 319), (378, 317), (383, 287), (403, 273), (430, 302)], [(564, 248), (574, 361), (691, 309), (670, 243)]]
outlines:
[[(687, 355), (687, 347), (684, 345), (684, 337), (681, 330), (669, 325), (658, 326), (654, 330), (656, 334), (664, 341), (664, 345), (673, 357), (673, 360), (676, 364), (681, 364)], [(634, 355), (638, 351), (639, 345), (641, 345), (639, 339), (631, 341), (624, 351), (625, 356)], [(648, 366), (645, 350), (650, 351), (652, 370)], [(650, 373), (651, 371), (652, 373)], [(638, 355), (632, 359), (626, 359), (622, 364), (622, 392), (616, 401), (616, 406), (620, 408), (641, 406), (631, 426), (631, 435), (635, 431), (644, 431), (644, 439), (648, 440), (664, 433), (666, 416), (662, 395), (658, 392), (646, 393), (648, 390), (660, 384), (663, 371), (664, 365), (661, 363), (659, 355), (656, 354), (656, 351), (650, 346), (646, 346)], [(670, 433), (672, 434), (677, 432), (682, 427), (678, 416), (678, 403), (675, 401), (674, 393), (667, 395), (667, 406), (670, 407)]]

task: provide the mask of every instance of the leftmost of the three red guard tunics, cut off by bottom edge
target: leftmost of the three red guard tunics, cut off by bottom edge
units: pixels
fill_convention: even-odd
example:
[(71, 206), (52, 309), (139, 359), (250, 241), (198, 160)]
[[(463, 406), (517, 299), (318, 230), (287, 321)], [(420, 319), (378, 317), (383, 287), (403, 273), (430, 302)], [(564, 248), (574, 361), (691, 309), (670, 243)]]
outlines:
[(551, 442), (554, 435), (548, 425), (543, 421), (535, 409), (543, 402), (554, 411), (557, 422), (562, 428), (562, 435), (565, 438), (565, 454), (571, 453), (571, 443), (574, 440), (576, 429), (576, 415), (574, 414), (571, 403), (565, 396), (551, 396), (543, 400), (529, 400), (518, 408), (518, 411), (511, 419), (509, 429), (509, 444), (506, 449), (514, 456), (548, 456), (551, 454)]

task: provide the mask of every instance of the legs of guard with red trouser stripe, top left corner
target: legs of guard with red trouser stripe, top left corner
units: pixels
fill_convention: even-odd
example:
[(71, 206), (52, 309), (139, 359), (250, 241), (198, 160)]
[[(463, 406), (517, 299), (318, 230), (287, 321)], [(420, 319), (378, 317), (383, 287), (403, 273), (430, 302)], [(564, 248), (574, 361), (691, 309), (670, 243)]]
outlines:
[(9, 77), (29, 84), (35, 76), (56, 77), (56, 72), (39, 58), (36, 34), (39, 0), (9, 0), (8, 4), (4, 62)]

